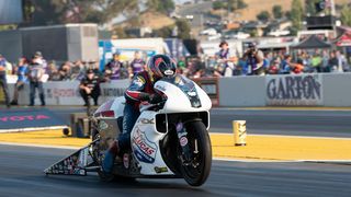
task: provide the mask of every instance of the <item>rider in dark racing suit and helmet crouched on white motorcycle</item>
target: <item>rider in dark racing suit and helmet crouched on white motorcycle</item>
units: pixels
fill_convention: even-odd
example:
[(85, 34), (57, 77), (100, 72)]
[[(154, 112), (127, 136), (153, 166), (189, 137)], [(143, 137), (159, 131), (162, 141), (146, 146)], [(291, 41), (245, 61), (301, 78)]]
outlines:
[(111, 175), (115, 157), (120, 150), (131, 148), (131, 132), (140, 115), (139, 105), (141, 102), (156, 104), (162, 101), (162, 97), (155, 92), (154, 84), (161, 78), (171, 78), (176, 74), (176, 62), (167, 55), (155, 55), (148, 63), (147, 70), (138, 72), (129, 88), (125, 91), (126, 104), (123, 116), (123, 131), (109, 148), (105, 159), (102, 162), (103, 173)]

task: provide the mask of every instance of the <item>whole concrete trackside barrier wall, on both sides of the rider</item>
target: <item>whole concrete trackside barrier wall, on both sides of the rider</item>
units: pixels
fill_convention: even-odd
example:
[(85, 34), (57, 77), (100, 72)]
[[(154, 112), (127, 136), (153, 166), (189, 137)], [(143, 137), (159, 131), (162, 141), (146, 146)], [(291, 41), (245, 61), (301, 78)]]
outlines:
[[(351, 73), (204, 78), (194, 81), (210, 95), (213, 106), (351, 106)], [(101, 84), (99, 104), (123, 95), (129, 80)], [(82, 105), (79, 81), (44, 84), (47, 105)], [(13, 84), (9, 84), (12, 97)], [(30, 103), (29, 85), (19, 103)], [(39, 104), (36, 96), (36, 104)]]

